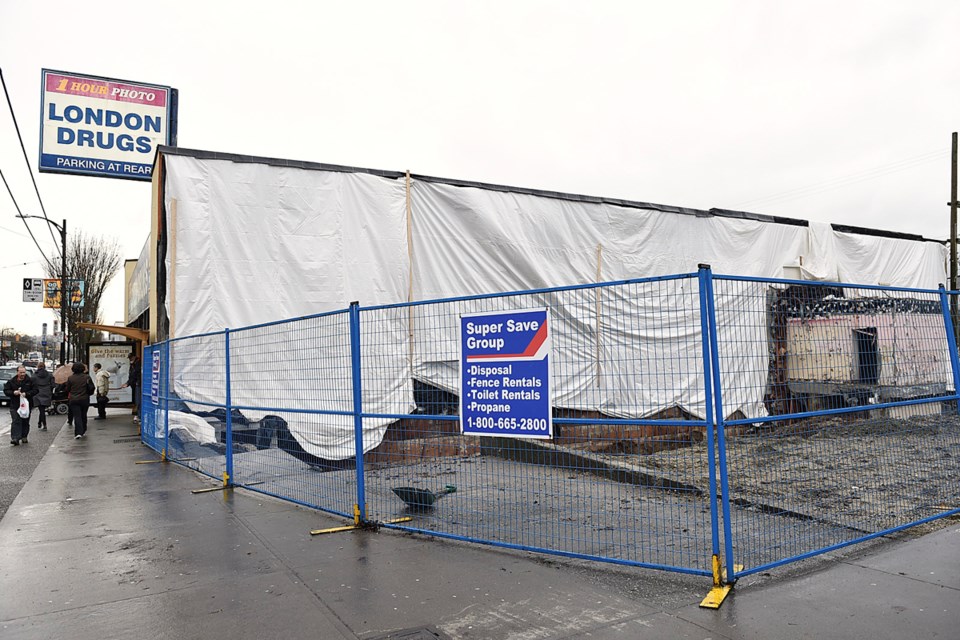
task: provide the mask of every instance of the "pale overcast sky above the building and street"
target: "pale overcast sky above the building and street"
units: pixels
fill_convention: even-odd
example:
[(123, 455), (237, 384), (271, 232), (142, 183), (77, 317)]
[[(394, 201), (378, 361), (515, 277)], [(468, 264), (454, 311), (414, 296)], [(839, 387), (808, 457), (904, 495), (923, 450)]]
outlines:
[[(0, 68), (34, 172), (47, 68), (176, 87), (187, 148), (949, 234), (954, 0), (3, 0)], [(6, 104), (0, 169), (39, 215)], [(35, 175), (51, 219), (138, 256), (149, 183)], [(15, 214), (0, 189), (0, 328), (39, 334)]]

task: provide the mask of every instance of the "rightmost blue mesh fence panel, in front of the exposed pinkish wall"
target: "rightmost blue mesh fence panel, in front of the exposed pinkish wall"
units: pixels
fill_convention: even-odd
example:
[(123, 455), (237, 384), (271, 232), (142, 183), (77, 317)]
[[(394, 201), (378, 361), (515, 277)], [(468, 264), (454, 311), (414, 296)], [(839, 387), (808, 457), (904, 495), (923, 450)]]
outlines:
[[(958, 503), (936, 292), (718, 278), (714, 300), (735, 562), (761, 568)], [(751, 384), (763, 407), (731, 411)]]

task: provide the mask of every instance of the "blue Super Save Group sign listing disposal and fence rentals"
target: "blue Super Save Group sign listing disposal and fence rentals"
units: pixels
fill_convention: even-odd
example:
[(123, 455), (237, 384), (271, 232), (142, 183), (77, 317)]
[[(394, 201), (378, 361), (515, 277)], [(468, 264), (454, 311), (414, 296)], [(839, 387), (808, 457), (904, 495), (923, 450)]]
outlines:
[(461, 316), (461, 432), (550, 438), (550, 408), (547, 310)]

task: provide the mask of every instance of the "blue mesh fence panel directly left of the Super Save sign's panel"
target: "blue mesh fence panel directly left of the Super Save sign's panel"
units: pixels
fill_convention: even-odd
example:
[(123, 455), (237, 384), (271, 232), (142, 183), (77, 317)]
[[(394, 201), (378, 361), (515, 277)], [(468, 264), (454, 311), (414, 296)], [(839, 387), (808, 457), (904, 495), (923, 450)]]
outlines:
[(349, 329), (341, 312), (230, 333), (234, 483), (352, 515)]

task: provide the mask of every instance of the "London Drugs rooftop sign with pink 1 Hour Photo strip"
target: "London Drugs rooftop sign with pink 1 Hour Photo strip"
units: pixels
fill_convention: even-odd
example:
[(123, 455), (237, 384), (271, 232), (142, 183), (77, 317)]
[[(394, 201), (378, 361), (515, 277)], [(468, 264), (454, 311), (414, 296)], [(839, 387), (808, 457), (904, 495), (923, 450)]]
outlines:
[(40, 171), (150, 180), (158, 145), (176, 145), (177, 90), (43, 70)]

